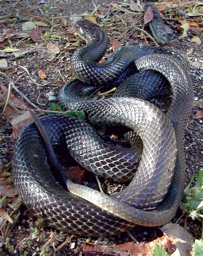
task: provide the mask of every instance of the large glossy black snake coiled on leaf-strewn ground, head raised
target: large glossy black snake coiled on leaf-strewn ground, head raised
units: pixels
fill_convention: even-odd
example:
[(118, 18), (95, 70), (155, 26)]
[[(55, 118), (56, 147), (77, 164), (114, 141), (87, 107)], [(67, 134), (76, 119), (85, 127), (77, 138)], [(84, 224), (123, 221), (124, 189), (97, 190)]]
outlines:
[[(59, 102), (63, 109), (83, 110), (88, 122), (66, 115), (49, 115), (40, 121), (55, 151), (60, 148), (98, 176), (116, 182), (120, 178), (129, 184), (110, 196), (68, 178), (64, 185), (53, 170), (36, 124), (31, 122), (19, 134), (13, 150), (12, 174), (18, 193), (36, 216), (70, 234), (107, 236), (136, 225), (164, 225), (175, 216), (185, 184), (183, 139), (193, 104), (186, 61), (173, 51), (131, 42), (116, 49), (107, 62), (98, 63), (107, 49), (107, 34), (86, 20), (76, 21), (75, 29), (87, 45), (73, 55), (76, 79), (61, 89)], [(137, 89), (132, 93), (126, 89), (148, 75), (158, 84), (166, 84), (165, 89), (152, 86), (152, 95), (157, 90), (164, 93), (168, 87), (172, 90), (167, 114), (145, 100), (151, 95), (150, 78), (140, 93), (144, 99), (134, 98), (139, 95)], [(83, 98), (86, 87), (107, 88), (118, 83), (126, 87), (118, 86), (113, 98)], [(128, 127), (131, 147), (104, 142), (95, 124)], [(136, 136), (143, 143), (138, 149)]]

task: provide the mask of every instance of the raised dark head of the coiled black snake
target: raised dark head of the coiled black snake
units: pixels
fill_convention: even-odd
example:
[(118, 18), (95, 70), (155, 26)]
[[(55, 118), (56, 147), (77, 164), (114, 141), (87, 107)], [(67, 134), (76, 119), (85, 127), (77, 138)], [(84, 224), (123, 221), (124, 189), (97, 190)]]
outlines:
[(73, 23), (73, 28), (84, 40), (88, 41), (94, 36), (95, 30), (100, 29), (99, 25), (88, 21), (87, 19), (77, 19)]

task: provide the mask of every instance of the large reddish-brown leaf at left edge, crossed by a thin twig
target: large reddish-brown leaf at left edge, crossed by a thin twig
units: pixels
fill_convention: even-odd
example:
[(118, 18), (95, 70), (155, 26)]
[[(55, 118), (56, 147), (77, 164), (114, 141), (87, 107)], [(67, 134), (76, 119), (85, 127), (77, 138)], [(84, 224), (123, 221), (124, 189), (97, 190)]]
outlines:
[[(3, 96), (6, 99), (8, 89), (3, 85), (0, 86), (0, 89), (1, 89), (1, 93), (3, 93)], [(12, 93), (10, 93), (9, 101), (12, 104), (21, 106), (22, 108), (29, 108), (23, 101), (21, 101), (21, 99), (15, 97), (15, 95)], [(6, 117), (6, 120), (8, 120), (9, 123), (11, 123), (13, 128), (12, 139), (16, 139), (18, 134), (24, 128), (24, 126), (32, 120), (32, 117), (29, 111), (27, 110), (17, 111), (12, 107), (10, 107), (9, 105), (7, 105), (6, 107), (5, 117)]]

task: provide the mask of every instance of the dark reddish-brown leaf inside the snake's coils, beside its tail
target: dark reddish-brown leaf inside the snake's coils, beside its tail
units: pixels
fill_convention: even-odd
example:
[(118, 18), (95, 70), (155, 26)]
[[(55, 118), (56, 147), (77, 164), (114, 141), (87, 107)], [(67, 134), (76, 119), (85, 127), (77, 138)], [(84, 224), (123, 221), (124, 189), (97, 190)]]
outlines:
[(77, 184), (82, 184), (87, 174), (87, 172), (80, 166), (68, 167), (65, 169), (65, 171), (66, 174), (69, 176), (69, 179), (71, 179), (72, 182)]

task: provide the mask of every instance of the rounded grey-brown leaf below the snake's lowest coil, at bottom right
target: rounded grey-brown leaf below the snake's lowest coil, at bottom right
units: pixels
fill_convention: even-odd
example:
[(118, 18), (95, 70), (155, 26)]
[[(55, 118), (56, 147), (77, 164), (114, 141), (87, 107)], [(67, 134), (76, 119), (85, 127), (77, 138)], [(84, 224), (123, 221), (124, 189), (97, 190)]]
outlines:
[(161, 231), (167, 234), (173, 244), (173, 250), (176, 247), (179, 255), (190, 255), (194, 242), (191, 234), (185, 228), (178, 224), (168, 223), (161, 227)]

